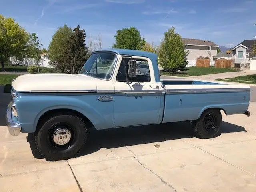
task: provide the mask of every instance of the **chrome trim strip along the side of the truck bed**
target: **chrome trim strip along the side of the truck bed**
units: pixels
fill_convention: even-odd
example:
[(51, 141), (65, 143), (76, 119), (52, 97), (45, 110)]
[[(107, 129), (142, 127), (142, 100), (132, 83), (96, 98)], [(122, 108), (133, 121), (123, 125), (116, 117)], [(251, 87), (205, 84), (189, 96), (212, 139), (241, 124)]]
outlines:
[(226, 93), (226, 92), (250, 92), (250, 88), (214, 88), (214, 89), (169, 89), (166, 94), (193, 94), (193, 93)]

